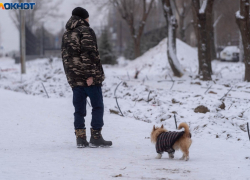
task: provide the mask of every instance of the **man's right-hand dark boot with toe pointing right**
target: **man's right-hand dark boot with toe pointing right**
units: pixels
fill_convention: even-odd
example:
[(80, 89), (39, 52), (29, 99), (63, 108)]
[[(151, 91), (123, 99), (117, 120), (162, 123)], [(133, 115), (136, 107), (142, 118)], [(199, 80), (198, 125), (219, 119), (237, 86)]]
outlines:
[(101, 131), (102, 129), (100, 130), (94, 130), (94, 129), (90, 129), (91, 130), (91, 138), (90, 138), (90, 141), (89, 141), (89, 147), (109, 147), (112, 145), (112, 141), (105, 141), (103, 138), (102, 138), (102, 134), (101, 134)]

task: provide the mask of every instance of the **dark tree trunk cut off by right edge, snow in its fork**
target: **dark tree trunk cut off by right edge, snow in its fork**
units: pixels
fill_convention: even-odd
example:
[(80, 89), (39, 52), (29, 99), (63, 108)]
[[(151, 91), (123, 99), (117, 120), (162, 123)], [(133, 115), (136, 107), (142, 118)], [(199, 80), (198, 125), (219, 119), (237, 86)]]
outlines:
[(240, 0), (240, 10), (236, 13), (236, 22), (239, 26), (245, 62), (245, 81), (250, 82), (250, 17), (249, 0)]

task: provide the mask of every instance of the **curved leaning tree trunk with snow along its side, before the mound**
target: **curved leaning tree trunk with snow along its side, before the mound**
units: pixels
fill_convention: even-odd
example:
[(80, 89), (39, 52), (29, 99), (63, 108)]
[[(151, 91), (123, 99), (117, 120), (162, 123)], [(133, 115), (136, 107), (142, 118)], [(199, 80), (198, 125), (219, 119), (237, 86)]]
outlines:
[(168, 28), (168, 40), (167, 40), (168, 61), (171, 66), (171, 69), (173, 70), (174, 76), (181, 77), (183, 75), (183, 71), (176, 56), (177, 20), (173, 15), (173, 10), (170, 4), (170, 0), (162, 0), (162, 6)]

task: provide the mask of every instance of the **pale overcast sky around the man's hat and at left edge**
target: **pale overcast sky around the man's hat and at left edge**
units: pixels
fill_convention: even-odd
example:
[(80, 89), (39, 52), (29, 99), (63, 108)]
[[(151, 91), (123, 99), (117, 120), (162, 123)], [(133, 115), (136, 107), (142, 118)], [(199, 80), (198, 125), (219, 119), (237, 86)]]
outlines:
[[(10, 0), (1, 0), (1, 2), (9, 3)], [(58, 19), (47, 19), (45, 23), (45, 27), (52, 33), (58, 32), (62, 27), (65, 26), (66, 22), (71, 16), (72, 10), (77, 6), (81, 6), (88, 10), (90, 14), (90, 25), (92, 27), (103, 25), (105, 21), (105, 12), (100, 12), (97, 10), (93, 3), (84, 3), (86, 0), (62, 0), (60, 2), (61, 4), (59, 5), (59, 13), (63, 14), (63, 16)], [(0, 9), (0, 33), (2, 39), (1, 45), (4, 47), (4, 52), (9, 52), (12, 50), (19, 51), (19, 32), (10, 18), (10, 11), (11, 10)]]

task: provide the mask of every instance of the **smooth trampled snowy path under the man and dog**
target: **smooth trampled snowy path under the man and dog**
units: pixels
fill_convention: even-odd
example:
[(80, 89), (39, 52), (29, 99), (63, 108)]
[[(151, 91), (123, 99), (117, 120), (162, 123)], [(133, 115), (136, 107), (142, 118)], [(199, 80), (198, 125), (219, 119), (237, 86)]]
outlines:
[[(103, 135), (113, 146), (78, 149), (70, 98), (0, 90), (0, 179), (250, 179), (250, 143), (193, 137), (190, 161), (178, 160), (180, 152), (154, 159), (153, 124), (109, 114), (114, 99), (104, 102)], [(88, 107), (88, 134), (90, 114)]]

